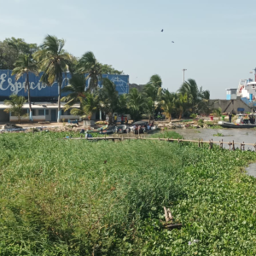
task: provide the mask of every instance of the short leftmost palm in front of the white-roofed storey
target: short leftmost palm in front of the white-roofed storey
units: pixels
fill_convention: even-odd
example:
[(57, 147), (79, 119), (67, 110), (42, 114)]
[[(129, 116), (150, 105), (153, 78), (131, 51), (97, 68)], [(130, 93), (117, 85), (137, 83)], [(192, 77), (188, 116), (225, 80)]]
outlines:
[(5, 100), (4, 104), (9, 106), (9, 108), (5, 108), (4, 112), (14, 113), (15, 116), (18, 117), (18, 121), (20, 123), (21, 116), (26, 116), (23, 114), (24, 109), (22, 108), (24, 103), (26, 103), (26, 98), (24, 96), (17, 96), (15, 94), (9, 96), (9, 100)]

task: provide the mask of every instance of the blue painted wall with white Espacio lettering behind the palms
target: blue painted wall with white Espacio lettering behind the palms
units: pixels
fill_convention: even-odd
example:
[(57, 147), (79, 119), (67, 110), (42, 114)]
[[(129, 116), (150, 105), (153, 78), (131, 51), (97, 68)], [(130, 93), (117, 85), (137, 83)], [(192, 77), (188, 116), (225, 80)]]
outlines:
[[(10, 96), (12, 94), (18, 94), (19, 96), (27, 96), (27, 91), (24, 91), (26, 77), (21, 77), (18, 81), (15, 80), (15, 76), (11, 75), (11, 70), (0, 70), (0, 96)], [(58, 96), (58, 84), (55, 82), (52, 86), (47, 86), (40, 82), (42, 73), (37, 77), (33, 73), (29, 74), (30, 89), (32, 97), (57, 97)], [(86, 74), (85, 74), (86, 76)], [(68, 84), (68, 80), (71, 78), (70, 73), (63, 74), (62, 88)], [(102, 78), (108, 78), (116, 84), (116, 90), (119, 95), (129, 93), (129, 76), (128, 75), (109, 75), (103, 74)], [(99, 86), (102, 86), (102, 82), (99, 82)], [(88, 87), (88, 81), (86, 82)], [(66, 96), (61, 93), (61, 96)]]

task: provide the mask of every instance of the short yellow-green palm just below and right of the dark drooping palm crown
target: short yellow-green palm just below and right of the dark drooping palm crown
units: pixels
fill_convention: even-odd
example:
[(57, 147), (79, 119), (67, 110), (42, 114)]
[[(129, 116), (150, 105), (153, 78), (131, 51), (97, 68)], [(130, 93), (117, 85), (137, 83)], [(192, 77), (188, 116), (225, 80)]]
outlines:
[(70, 113), (74, 115), (80, 115), (83, 119), (88, 117), (91, 119), (91, 116), (99, 108), (99, 97), (93, 93), (87, 93), (86, 98), (81, 101), (81, 108), (73, 108)]

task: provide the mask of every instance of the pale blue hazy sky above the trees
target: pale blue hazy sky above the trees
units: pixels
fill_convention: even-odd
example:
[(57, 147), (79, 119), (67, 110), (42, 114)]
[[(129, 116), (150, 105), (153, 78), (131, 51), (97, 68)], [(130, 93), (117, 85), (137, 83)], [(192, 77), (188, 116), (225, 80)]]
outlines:
[(71, 54), (91, 50), (123, 70), (131, 84), (157, 73), (162, 87), (177, 91), (187, 69), (185, 80), (224, 99), (225, 89), (253, 79), (255, 0), (0, 0), (0, 6), (0, 41), (42, 44), (55, 35)]

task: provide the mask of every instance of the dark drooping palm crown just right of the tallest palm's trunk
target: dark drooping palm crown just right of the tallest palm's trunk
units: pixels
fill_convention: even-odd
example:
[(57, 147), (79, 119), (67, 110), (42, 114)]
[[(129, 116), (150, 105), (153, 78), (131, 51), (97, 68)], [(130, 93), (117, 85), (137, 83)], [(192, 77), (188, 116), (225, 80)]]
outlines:
[(84, 75), (74, 74), (61, 92), (70, 92), (67, 96), (61, 98), (61, 102), (67, 102), (66, 109), (71, 108), (76, 102), (83, 102), (85, 98)]

